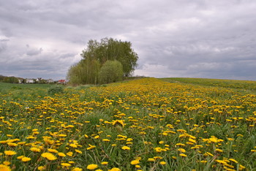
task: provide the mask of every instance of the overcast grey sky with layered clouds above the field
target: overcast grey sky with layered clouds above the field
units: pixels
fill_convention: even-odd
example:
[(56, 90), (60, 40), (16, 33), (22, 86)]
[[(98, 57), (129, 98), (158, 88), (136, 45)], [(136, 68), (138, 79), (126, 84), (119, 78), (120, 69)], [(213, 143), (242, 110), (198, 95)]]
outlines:
[(134, 75), (256, 80), (255, 0), (0, 0), (0, 75), (65, 79), (90, 39), (129, 41)]

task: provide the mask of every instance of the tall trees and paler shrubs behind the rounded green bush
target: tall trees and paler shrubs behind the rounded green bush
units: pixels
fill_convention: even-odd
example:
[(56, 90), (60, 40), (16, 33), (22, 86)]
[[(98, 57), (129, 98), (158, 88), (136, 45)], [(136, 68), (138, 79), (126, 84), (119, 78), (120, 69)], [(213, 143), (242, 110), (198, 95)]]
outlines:
[(124, 76), (132, 75), (137, 66), (138, 54), (130, 42), (121, 42), (113, 38), (90, 40), (83, 50), (83, 59), (69, 68), (67, 79), (72, 85), (99, 83), (99, 69), (106, 61), (119, 61)]

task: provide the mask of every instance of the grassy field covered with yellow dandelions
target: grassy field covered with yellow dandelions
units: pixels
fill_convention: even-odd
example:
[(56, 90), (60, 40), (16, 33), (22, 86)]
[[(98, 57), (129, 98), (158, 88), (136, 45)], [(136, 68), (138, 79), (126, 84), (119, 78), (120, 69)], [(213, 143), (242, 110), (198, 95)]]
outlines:
[(184, 80), (0, 83), (0, 170), (256, 170), (256, 82)]

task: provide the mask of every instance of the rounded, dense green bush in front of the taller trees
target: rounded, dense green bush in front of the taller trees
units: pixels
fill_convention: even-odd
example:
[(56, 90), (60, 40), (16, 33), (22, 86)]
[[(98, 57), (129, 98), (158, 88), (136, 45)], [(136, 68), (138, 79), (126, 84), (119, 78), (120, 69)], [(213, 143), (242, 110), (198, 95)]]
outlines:
[(106, 61), (99, 70), (99, 83), (113, 83), (122, 80), (124, 75), (119, 61)]

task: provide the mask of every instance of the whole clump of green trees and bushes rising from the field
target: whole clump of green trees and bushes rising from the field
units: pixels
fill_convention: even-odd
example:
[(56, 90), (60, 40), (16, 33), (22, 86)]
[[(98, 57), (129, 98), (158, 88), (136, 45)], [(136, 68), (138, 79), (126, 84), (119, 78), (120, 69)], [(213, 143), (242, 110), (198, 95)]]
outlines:
[(67, 80), (74, 85), (116, 82), (131, 76), (138, 61), (131, 42), (108, 37), (89, 40), (80, 55), (82, 59), (67, 72)]

